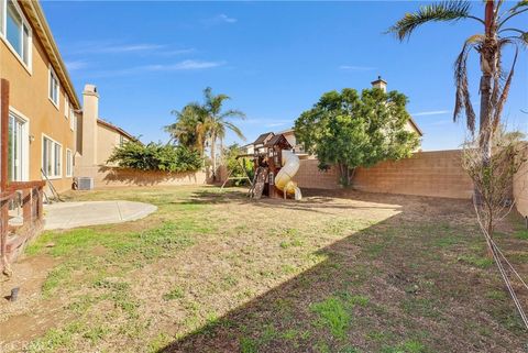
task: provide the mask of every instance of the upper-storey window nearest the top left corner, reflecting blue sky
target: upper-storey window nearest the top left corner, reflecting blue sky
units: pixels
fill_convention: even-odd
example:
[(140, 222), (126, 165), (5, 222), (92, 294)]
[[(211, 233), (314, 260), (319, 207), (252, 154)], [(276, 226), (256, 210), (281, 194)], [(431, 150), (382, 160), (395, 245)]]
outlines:
[(31, 65), (31, 27), (14, 0), (0, 0), (0, 33), (8, 46), (29, 68)]

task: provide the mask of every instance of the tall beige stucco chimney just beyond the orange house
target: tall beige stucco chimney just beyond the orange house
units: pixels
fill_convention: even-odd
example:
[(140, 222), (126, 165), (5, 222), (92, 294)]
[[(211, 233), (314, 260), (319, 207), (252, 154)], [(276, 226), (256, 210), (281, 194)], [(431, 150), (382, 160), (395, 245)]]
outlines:
[(99, 93), (95, 85), (86, 85), (82, 91), (82, 166), (97, 165), (97, 119)]

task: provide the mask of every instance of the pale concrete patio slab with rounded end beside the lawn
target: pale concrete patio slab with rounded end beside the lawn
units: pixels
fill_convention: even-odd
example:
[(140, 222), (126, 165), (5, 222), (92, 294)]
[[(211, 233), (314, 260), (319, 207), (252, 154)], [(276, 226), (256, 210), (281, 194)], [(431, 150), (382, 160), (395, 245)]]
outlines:
[(132, 201), (57, 202), (44, 206), (44, 229), (122, 223), (151, 214), (157, 207)]

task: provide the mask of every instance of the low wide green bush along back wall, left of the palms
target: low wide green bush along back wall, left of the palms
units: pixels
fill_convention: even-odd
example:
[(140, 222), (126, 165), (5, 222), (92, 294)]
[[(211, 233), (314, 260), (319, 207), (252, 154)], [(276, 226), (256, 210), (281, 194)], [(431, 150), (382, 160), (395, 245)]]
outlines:
[(204, 161), (196, 151), (170, 144), (129, 141), (113, 150), (108, 159), (120, 167), (139, 170), (195, 172), (202, 167)]

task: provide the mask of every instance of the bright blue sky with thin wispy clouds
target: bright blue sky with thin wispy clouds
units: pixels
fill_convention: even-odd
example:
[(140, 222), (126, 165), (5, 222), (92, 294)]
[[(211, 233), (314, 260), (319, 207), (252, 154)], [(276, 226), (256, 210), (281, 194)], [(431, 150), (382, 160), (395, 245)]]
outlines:
[[(425, 151), (457, 148), (453, 63), (477, 22), (433, 23), (398, 42), (386, 30), (418, 1), (176, 2), (43, 1), (52, 32), (81, 99), (98, 87), (99, 114), (143, 142), (167, 141), (173, 110), (201, 101), (202, 90), (227, 93), (246, 141), (292, 128), (330, 90), (370, 88), (381, 75), (408, 99), (424, 131)], [(481, 1), (473, 13), (481, 14)], [(524, 20), (524, 22), (521, 22)], [(513, 21), (524, 26), (528, 15)], [(505, 53), (505, 66), (512, 51)], [(479, 106), (479, 60), (470, 59)], [(520, 53), (504, 119), (528, 132), (528, 51)]]

